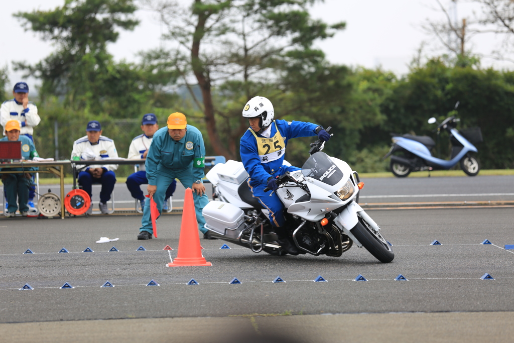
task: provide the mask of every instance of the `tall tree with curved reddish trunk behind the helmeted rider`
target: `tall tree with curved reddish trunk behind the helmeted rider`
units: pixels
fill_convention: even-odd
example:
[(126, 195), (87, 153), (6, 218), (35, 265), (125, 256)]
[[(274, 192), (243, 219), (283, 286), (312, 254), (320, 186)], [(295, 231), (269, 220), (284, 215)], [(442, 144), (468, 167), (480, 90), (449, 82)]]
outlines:
[(188, 8), (148, 1), (168, 26), (166, 38), (175, 44), (168, 62), (203, 113), (216, 154), (237, 158), (239, 138), (248, 128), (241, 116), (244, 103), (256, 95), (277, 103), (278, 80), (294, 53), (344, 28), (312, 20), (308, 6), (315, 1), (193, 0)]

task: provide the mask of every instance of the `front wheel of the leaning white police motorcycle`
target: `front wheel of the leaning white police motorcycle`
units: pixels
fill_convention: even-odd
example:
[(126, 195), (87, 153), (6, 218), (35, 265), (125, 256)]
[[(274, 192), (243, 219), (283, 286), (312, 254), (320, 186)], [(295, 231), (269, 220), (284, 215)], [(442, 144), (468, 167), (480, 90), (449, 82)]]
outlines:
[(371, 255), (382, 263), (389, 263), (394, 259), (394, 252), (391, 246), (383, 238), (380, 231), (373, 229), (364, 219), (359, 216), (359, 221), (350, 230), (355, 238), (362, 244)]

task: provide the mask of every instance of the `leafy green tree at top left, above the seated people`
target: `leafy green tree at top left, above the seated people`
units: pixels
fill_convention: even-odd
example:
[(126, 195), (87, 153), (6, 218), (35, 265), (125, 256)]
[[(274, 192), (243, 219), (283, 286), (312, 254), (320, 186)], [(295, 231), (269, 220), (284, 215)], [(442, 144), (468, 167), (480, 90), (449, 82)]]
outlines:
[(41, 99), (64, 98), (64, 104), (86, 113), (112, 115), (138, 113), (149, 96), (144, 68), (115, 63), (107, 45), (117, 41), (119, 29), (132, 30), (133, 0), (65, 0), (54, 10), (14, 14), (26, 30), (40, 33), (57, 50), (43, 61), (15, 63), (28, 75), (42, 80)]

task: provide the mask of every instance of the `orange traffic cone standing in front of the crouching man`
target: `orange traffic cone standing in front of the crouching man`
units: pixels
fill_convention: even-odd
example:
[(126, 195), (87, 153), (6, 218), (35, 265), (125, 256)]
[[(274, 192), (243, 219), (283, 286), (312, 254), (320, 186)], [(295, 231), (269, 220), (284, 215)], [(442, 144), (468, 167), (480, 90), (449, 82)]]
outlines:
[(182, 210), (182, 224), (180, 225), (180, 238), (178, 239), (177, 257), (168, 267), (212, 265), (201, 255), (198, 224), (194, 209), (193, 191), (186, 189), (184, 207)]

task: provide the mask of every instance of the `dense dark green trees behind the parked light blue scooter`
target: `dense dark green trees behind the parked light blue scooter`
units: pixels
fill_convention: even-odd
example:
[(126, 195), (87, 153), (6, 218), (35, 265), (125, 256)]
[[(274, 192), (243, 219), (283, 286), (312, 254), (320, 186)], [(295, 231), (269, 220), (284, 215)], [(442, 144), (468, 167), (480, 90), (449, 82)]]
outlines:
[[(460, 105), (453, 111), (455, 103)], [(447, 65), (440, 59), (415, 68), (397, 82), (380, 105), (387, 116), (370, 130), (376, 142), (390, 140), (389, 132), (434, 136), (434, 125), (449, 115), (461, 119), (457, 129), (480, 127), (478, 146), (484, 169), (514, 168), (514, 72)], [(448, 136), (442, 134), (442, 156), (448, 156)]]

